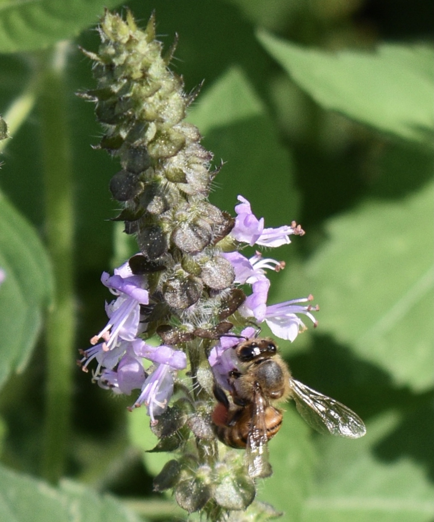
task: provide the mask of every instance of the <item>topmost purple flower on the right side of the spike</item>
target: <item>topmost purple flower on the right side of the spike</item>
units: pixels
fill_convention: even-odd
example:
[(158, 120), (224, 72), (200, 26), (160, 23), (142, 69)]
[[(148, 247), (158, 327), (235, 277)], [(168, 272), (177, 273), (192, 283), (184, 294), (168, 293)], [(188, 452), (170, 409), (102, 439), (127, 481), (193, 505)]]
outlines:
[(250, 203), (242, 196), (238, 196), (241, 202), (235, 207), (237, 217), (231, 235), (241, 243), (248, 243), (250, 246), (263, 245), (276, 247), (290, 243), (291, 234), (303, 235), (304, 231), (300, 225), (292, 221), (291, 226), (284, 225), (278, 228), (265, 228), (264, 218), (257, 219), (253, 214)]

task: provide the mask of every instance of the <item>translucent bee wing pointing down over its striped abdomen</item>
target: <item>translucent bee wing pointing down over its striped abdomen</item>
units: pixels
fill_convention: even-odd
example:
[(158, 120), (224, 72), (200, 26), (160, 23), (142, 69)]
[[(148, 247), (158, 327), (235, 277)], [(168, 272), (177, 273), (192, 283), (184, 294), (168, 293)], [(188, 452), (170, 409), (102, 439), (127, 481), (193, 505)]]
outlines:
[(246, 445), (247, 467), (250, 477), (269, 477), (272, 474), (268, 462), (268, 437), (265, 423), (265, 401), (257, 393), (252, 403), (252, 421)]

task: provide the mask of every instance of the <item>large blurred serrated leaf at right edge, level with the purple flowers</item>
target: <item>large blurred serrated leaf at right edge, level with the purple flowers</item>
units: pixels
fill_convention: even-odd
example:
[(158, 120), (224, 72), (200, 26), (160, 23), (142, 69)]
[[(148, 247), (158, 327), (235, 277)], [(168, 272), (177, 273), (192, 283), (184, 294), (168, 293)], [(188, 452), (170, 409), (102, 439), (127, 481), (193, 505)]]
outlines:
[(432, 193), (429, 184), (329, 220), (329, 241), (306, 266), (321, 333), (416, 391), (433, 379)]

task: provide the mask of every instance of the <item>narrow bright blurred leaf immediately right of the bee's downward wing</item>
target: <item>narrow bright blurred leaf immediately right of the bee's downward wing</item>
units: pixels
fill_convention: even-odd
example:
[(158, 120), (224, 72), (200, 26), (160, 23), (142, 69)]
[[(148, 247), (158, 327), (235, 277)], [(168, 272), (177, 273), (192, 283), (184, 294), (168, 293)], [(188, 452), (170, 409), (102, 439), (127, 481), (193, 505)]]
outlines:
[(317, 455), (308, 425), (294, 404), (288, 410), (281, 429), (268, 444), (273, 475), (261, 484), (258, 498), (285, 512), (285, 520), (300, 520)]

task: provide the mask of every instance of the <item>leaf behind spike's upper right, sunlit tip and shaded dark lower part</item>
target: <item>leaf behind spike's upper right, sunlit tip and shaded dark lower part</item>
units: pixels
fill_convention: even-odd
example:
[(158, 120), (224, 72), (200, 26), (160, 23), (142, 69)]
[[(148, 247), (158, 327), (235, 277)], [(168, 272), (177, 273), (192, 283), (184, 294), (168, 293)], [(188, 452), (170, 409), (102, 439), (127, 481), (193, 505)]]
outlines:
[[(279, 144), (277, 130), (250, 81), (241, 70), (231, 68), (198, 99), (189, 115), (205, 136), (203, 144), (225, 162), (210, 200), (233, 213), (237, 195), (249, 199), (257, 216), (267, 214), (266, 226), (290, 223), (298, 206), (287, 150)], [(261, 187), (258, 190), (258, 186)], [(268, 201), (279, 205), (267, 212)], [(288, 210), (289, 209), (289, 210)]]

